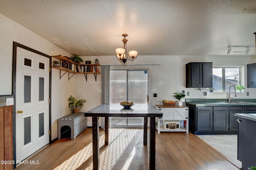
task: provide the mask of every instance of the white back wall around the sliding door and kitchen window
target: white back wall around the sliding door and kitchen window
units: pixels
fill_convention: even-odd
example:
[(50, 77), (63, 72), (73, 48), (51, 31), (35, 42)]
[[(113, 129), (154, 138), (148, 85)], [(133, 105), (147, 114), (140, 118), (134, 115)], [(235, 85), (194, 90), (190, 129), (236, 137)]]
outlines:
[[(114, 53), (114, 51), (113, 51)], [(149, 69), (149, 81), (150, 81), (150, 94), (149, 102), (153, 105), (161, 105), (162, 100), (173, 100), (174, 93), (185, 90), (185, 94), (190, 92), (186, 99), (227, 99), (228, 93), (214, 92), (207, 93), (207, 96), (203, 95), (202, 91), (197, 88), (186, 88), (186, 69), (185, 64), (189, 62), (213, 62), (213, 66), (246, 66), (249, 63), (255, 63), (256, 57), (254, 56), (138, 56), (134, 64), (145, 63), (159, 63), (160, 65), (120, 65), (117, 57), (115, 56), (82, 56), (82, 59), (92, 61), (98, 58), (100, 64), (112, 64), (112, 69), (122, 68), (144, 68)], [(118, 65), (113, 65), (118, 64)], [(100, 72), (101, 72), (101, 67)], [(246, 79), (246, 67), (241, 74), (244, 75), (244, 87), (247, 87)], [(93, 75), (88, 75), (89, 82), (85, 82), (85, 78), (82, 75), (76, 76), (75, 95), (84, 94), (86, 96), (86, 104), (83, 108), (84, 111), (92, 109), (100, 105), (101, 103), (101, 75), (98, 75), (97, 82), (95, 82)], [(94, 88), (93, 88), (94, 87)], [(86, 89), (86, 90), (85, 90)], [(247, 96), (246, 92), (250, 95)], [(256, 88), (246, 88), (244, 93), (237, 93), (237, 98), (240, 99), (255, 99)], [(153, 97), (153, 93), (157, 93), (157, 97)], [(98, 96), (98, 97), (96, 97)], [(95, 99), (95, 100), (94, 100)], [(182, 99), (185, 101), (184, 99)], [(88, 126), (92, 126), (91, 119), (88, 119)]]

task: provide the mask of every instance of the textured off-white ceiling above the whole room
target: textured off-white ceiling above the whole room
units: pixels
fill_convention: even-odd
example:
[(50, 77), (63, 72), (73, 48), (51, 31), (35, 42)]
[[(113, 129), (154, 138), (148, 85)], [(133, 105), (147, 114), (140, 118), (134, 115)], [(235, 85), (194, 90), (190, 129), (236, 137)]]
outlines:
[[(0, 13), (71, 54), (227, 54), (255, 45), (256, 0), (0, 0)], [(245, 51), (246, 48), (241, 50)], [(240, 49), (236, 49), (240, 50)], [(233, 51), (233, 49), (232, 49)]]

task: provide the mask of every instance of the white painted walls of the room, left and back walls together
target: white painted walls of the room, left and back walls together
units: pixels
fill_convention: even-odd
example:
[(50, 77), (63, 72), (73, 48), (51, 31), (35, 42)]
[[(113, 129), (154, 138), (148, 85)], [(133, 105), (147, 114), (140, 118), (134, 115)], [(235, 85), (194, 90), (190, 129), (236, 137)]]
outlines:
[[(71, 56), (56, 45), (46, 41), (30, 30), (20, 26), (16, 22), (0, 14), (0, 95), (12, 94), (12, 44), (13, 41), (36, 49), (47, 55)], [(101, 64), (119, 64), (117, 57), (96, 56)], [(95, 56), (82, 56), (84, 60), (94, 62)], [(162, 104), (162, 99), (176, 100), (173, 93), (185, 90), (190, 92), (186, 99), (226, 99), (227, 93), (207, 93), (204, 96), (196, 88), (185, 88), (185, 64), (189, 62), (213, 62), (214, 66), (245, 66), (255, 63), (255, 56), (140, 56), (136, 57), (134, 63), (160, 63), (160, 65), (112, 65), (111, 68), (147, 68), (150, 74), (150, 103)], [(101, 67), (100, 71), (101, 71)], [(63, 72), (62, 72), (63, 73)], [(244, 72), (246, 81), (246, 69)], [(69, 95), (76, 99), (86, 99), (85, 107), (81, 111), (88, 111), (101, 103), (101, 74), (97, 75), (97, 81), (93, 74), (88, 74), (86, 82), (83, 74), (74, 75), (68, 81), (68, 74), (60, 79), (60, 71), (52, 69), (52, 139), (57, 138), (57, 119), (68, 115), (71, 110), (68, 108)], [(244, 83), (247, 87), (247, 84)], [(246, 88), (245, 93), (238, 93), (237, 98), (256, 98), (256, 89)], [(250, 92), (250, 96), (246, 96)], [(153, 97), (157, 93), (158, 97)], [(91, 126), (91, 119), (88, 119), (88, 126)]]

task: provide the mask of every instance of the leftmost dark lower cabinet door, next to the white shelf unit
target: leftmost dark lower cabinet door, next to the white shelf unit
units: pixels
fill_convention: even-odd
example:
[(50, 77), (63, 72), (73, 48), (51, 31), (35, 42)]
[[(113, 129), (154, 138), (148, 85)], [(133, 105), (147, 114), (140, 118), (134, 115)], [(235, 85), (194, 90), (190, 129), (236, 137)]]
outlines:
[(212, 131), (212, 111), (197, 111), (198, 131)]

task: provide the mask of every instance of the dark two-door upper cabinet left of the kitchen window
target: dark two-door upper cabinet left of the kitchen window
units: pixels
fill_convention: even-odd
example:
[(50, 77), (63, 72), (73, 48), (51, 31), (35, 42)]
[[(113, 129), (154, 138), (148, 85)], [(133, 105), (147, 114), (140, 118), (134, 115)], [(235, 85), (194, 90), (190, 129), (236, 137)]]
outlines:
[(186, 64), (186, 88), (212, 87), (212, 62)]

